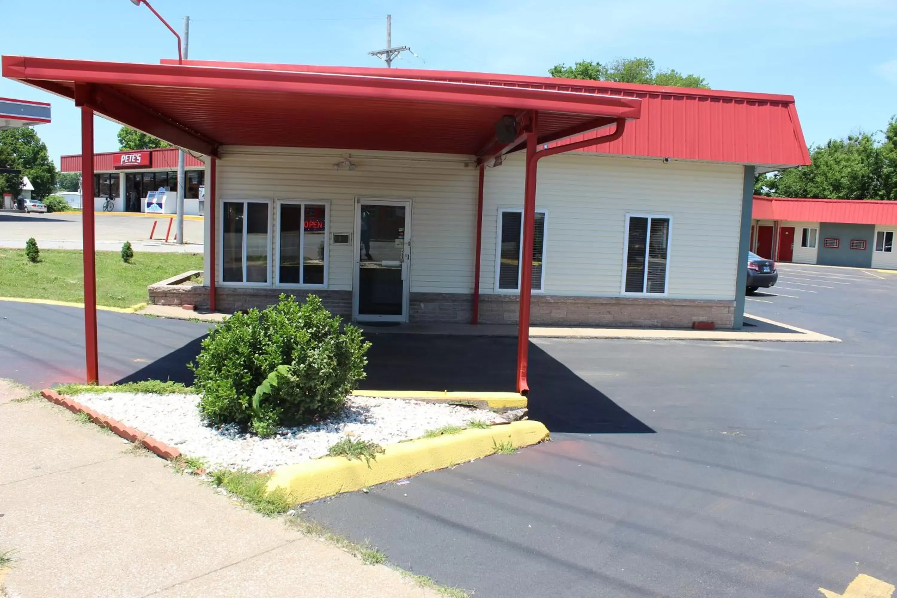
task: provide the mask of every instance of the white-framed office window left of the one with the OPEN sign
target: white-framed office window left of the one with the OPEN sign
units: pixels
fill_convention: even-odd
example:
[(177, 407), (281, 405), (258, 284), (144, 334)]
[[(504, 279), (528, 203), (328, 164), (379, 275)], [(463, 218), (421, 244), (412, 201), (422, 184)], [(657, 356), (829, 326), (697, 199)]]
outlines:
[(268, 202), (222, 202), (222, 282), (268, 282), (271, 253), (268, 210)]

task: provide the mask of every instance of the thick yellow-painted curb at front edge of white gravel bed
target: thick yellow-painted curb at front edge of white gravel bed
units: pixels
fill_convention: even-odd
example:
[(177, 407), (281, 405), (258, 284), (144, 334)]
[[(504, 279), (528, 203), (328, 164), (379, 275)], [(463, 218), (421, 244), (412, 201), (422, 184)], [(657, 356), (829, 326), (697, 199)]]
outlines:
[(549, 438), (538, 421), (515, 421), (489, 429), (466, 429), (437, 438), (420, 438), (386, 447), (376, 461), (350, 461), (343, 456), (322, 457), (308, 463), (286, 465), (274, 471), (267, 490), (286, 490), (297, 503), (340, 492), (352, 492), (384, 481), (401, 480), (433, 472), (495, 453), (497, 446), (535, 445)]

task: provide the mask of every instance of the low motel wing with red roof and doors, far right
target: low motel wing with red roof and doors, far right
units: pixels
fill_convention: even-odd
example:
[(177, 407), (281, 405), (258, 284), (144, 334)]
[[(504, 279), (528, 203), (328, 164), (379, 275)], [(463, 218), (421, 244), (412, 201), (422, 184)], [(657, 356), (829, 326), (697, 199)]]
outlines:
[(897, 202), (753, 198), (751, 250), (777, 262), (897, 269)]

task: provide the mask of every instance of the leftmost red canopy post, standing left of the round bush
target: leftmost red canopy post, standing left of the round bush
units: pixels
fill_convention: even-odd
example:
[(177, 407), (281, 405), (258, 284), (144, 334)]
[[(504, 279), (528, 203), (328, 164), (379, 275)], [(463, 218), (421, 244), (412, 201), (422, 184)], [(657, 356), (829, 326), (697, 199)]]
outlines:
[(81, 224), (84, 256), (84, 356), (87, 384), (99, 384), (97, 356), (97, 263), (93, 231), (93, 109), (81, 107)]

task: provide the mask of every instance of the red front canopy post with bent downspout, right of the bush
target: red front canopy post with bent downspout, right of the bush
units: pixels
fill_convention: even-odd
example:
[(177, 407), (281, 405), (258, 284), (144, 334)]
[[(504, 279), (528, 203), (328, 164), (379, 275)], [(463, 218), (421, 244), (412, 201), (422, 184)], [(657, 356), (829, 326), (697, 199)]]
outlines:
[[(533, 131), (536, 131), (535, 118), (531, 124)], [(520, 394), (529, 394), (529, 385), (527, 384), (527, 367), (529, 365), (529, 308), (532, 299), (532, 282), (533, 282), (533, 238), (536, 233), (536, 171), (539, 160), (553, 156), (558, 153), (572, 152), (584, 147), (591, 147), (601, 143), (610, 143), (619, 139), (623, 135), (626, 127), (625, 118), (617, 118), (616, 129), (614, 133), (597, 137), (594, 139), (584, 139), (573, 143), (564, 143), (555, 145), (538, 151), (536, 147), (536, 133), (527, 134), (527, 174), (526, 187), (524, 191), (523, 203), (523, 247), (521, 248), (520, 259), (520, 315), (518, 318), (518, 335), (517, 335), (517, 392)]]

